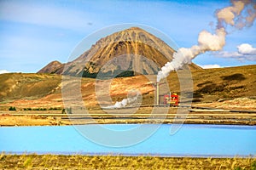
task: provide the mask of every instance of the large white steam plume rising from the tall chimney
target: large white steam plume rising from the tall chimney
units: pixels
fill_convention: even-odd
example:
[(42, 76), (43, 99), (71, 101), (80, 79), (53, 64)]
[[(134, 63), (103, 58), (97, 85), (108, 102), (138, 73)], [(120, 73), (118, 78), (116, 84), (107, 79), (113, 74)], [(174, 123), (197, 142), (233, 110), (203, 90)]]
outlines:
[[(247, 9), (247, 10), (245, 10)], [(245, 14), (246, 16), (244, 16)], [(225, 45), (226, 26), (242, 29), (244, 26), (252, 26), (256, 18), (256, 3), (251, 0), (231, 1), (231, 6), (216, 11), (218, 20), (214, 34), (201, 31), (198, 36), (198, 44), (191, 48), (179, 48), (171, 62), (167, 62), (158, 72), (157, 82), (169, 75), (171, 71), (177, 71), (185, 64), (190, 64), (198, 54), (207, 51), (219, 51)]]

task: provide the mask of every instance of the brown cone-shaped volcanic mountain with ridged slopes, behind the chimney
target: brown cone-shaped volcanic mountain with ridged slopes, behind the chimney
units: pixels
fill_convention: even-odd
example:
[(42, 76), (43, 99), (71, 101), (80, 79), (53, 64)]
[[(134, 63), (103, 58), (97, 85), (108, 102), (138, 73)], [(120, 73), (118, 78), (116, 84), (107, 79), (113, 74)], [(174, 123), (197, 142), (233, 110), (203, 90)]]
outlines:
[[(156, 75), (175, 52), (166, 42), (148, 31), (131, 27), (102, 37), (77, 59), (63, 65), (57, 61), (49, 63), (40, 73), (68, 74), (72, 76), (130, 77), (137, 74)], [(195, 64), (191, 70), (200, 70)]]

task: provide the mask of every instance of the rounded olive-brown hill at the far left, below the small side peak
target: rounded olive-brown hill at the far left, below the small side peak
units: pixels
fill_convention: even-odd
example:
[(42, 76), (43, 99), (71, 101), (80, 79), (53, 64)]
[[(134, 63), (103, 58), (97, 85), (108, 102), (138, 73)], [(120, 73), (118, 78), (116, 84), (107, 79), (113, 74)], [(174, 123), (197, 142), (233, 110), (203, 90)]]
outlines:
[(53, 94), (61, 83), (59, 75), (6, 73), (0, 74), (0, 102), (15, 99), (40, 99)]

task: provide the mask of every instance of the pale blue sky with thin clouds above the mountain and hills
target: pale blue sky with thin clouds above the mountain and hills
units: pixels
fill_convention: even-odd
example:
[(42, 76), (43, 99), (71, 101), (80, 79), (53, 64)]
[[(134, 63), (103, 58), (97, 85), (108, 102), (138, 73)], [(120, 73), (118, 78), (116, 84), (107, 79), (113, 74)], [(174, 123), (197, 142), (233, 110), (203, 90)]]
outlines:
[[(150, 26), (179, 48), (190, 48), (201, 31), (214, 33), (216, 10), (229, 5), (224, 0), (0, 0), (0, 73), (37, 72), (53, 60), (65, 63), (84, 37), (125, 23)], [(255, 22), (226, 31), (222, 51), (200, 54), (193, 62), (204, 68), (255, 65)]]

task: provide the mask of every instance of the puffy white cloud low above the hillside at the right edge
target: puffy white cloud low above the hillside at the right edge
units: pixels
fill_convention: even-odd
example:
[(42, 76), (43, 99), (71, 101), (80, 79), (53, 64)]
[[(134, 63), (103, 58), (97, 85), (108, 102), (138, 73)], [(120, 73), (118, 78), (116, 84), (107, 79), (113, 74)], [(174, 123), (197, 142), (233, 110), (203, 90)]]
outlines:
[(242, 43), (237, 46), (236, 52), (221, 51), (215, 53), (216, 56), (221, 58), (237, 59), (239, 61), (256, 61), (256, 48), (248, 43)]

